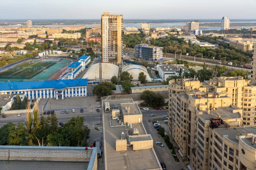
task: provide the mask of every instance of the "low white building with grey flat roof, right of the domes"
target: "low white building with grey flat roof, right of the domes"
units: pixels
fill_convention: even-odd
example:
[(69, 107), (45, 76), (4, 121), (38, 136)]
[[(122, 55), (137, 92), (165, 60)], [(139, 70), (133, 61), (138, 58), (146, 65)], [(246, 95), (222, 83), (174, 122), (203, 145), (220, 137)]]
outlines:
[(189, 73), (189, 70), (184, 65), (157, 65), (157, 71), (159, 76), (162, 78), (162, 82), (170, 76), (183, 75), (185, 72)]

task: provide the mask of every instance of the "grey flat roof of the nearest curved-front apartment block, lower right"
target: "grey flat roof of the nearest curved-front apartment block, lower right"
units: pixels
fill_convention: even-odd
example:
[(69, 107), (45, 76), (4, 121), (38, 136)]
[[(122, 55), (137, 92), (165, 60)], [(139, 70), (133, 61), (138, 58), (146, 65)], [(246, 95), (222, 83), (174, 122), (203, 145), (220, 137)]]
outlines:
[[(220, 135), (228, 135), (228, 139), (235, 143), (239, 143), (239, 141), (236, 139), (236, 133), (239, 133), (239, 135), (242, 135), (242, 131), (244, 130), (246, 133), (253, 133), (256, 134), (256, 127), (236, 127), (236, 128), (230, 128), (230, 129), (215, 129)], [(256, 144), (251, 144), (252, 141), (249, 139), (243, 139), (243, 141), (250, 145), (251, 147), (254, 147), (256, 149)]]

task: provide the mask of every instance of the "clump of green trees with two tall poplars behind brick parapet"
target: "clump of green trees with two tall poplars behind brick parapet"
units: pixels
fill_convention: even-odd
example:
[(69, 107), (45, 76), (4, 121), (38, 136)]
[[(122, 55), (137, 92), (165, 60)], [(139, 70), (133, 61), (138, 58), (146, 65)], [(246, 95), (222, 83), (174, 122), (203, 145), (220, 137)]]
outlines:
[(84, 117), (77, 116), (58, 127), (55, 114), (39, 116), (35, 105), (33, 113), (27, 111), (25, 125), (10, 122), (0, 128), (0, 145), (87, 146), (90, 129), (83, 122)]

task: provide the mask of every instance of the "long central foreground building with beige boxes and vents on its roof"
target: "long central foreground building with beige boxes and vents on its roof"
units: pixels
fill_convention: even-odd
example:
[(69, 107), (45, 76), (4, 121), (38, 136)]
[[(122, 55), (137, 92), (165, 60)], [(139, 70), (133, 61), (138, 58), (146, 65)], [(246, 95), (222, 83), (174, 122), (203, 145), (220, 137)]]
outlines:
[(151, 134), (146, 132), (143, 115), (133, 99), (102, 100), (102, 119), (105, 169), (162, 169)]

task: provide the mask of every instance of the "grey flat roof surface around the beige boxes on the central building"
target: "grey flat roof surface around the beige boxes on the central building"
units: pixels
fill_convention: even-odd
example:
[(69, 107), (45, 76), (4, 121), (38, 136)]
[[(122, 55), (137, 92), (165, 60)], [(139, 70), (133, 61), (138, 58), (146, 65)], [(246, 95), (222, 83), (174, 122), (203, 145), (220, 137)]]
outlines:
[[(109, 102), (110, 106), (117, 106), (122, 111), (122, 103), (133, 104), (132, 99), (124, 100), (105, 100)], [(127, 104), (126, 104), (127, 105)], [(131, 108), (130, 106), (130, 108)], [(135, 107), (135, 105), (134, 105)], [(135, 108), (134, 108), (135, 109)], [(138, 108), (137, 108), (138, 109)], [(138, 109), (141, 114), (140, 110)], [(121, 133), (125, 132), (125, 127), (110, 127), (109, 116), (111, 112), (105, 112), (103, 110), (103, 125), (104, 125), (104, 140), (105, 140), (105, 167), (108, 170), (148, 170), (159, 169), (157, 158), (154, 155), (153, 148), (144, 150), (132, 150), (132, 147), (128, 147), (124, 151), (116, 151), (116, 140), (121, 139)], [(147, 134), (143, 128), (142, 123), (132, 124), (132, 128), (137, 128), (140, 135)], [(131, 134), (130, 134), (131, 135)], [(140, 137), (141, 138), (141, 137)], [(127, 139), (127, 136), (125, 136)], [(149, 137), (142, 137), (143, 140), (148, 140)], [(131, 141), (138, 140), (138, 138), (131, 138)], [(141, 139), (140, 139), (141, 140)]]

